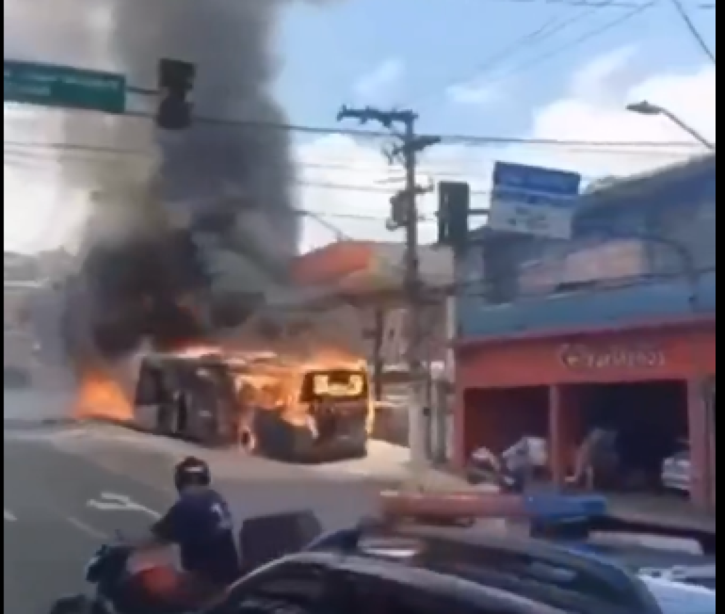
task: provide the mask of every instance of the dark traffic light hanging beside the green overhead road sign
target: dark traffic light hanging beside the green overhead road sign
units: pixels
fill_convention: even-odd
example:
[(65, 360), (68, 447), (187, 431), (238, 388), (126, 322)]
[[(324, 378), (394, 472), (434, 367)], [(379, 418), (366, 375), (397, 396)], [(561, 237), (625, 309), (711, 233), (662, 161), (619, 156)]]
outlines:
[(159, 107), (156, 123), (164, 130), (183, 130), (191, 125), (191, 102), (196, 68), (180, 59), (159, 61)]

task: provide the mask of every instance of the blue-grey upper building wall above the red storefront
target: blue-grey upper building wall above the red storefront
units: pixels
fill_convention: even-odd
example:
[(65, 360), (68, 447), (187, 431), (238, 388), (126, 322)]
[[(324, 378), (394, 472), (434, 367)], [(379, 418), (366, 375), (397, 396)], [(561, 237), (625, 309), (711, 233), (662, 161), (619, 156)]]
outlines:
[(479, 232), (456, 267), (459, 338), (714, 313), (715, 172), (712, 157), (584, 196), (570, 241)]

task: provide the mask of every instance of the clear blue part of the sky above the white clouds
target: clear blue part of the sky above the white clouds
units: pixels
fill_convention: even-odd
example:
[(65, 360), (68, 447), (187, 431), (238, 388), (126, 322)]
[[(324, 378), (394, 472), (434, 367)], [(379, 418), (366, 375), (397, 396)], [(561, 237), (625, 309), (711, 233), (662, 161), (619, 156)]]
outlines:
[[(684, 1), (688, 8), (697, 2)], [(426, 130), (523, 133), (532, 109), (556, 99), (576, 67), (612, 49), (639, 46), (629, 78), (702, 63), (702, 52), (668, 0), (605, 30), (629, 12), (542, 0), (299, 4), (287, 12), (280, 33), (284, 68), (278, 89), (294, 121), (328, 125), (342, 102), (368, 101), (355, 91), (357, 80), (385, 62), (399, 62), (402, 73), (397, 83), (369, 101), (415, 106)], [(715, 15), (713, 10), (692, 10), (711, 45)], [(566, 20), (571, 23), (561, 25), (549, 38), (502, 53), (537, 28)], [(594, 35), (597, 31), (600, 34)], [(587, 36), (592, 38), (573, 44)], [(552, 54), (550, 59), (543, 57), (546, 54)], [(492, 83), (489, 104), (451, 104), (447, 88), (475, 78)]]

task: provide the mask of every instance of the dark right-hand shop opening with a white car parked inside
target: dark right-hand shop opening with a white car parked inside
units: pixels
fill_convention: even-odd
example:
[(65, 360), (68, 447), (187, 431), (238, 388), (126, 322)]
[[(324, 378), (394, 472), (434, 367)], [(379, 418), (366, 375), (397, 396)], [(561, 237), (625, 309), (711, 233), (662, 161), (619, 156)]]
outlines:
[[(599, 490), (687, 494), (690, 455), (684, 381), (576, 386), (574, 473)], [(573, 434), (573, 433), (572, 433)]]

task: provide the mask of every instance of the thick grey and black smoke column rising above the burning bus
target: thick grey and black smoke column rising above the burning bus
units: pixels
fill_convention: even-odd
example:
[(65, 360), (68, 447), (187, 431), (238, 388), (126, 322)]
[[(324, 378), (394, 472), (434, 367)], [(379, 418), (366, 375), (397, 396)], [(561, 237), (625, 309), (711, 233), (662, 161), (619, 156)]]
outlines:
[[(81, 284), (80, 294), (72, 293), (76, 301), (84, 297), (83, 310), (75, 311), (98, 320), (107, 318), (112, 304), (128, 314), (150, 295), (164, 306), (163, 317), (137, 314), (135, 320), (127, 315), (123, 323), (106, 322), (101, 328), (123, 337), (106, 347), (132, 347), (141, 336), (157, 333), (157, 322), (177, 321), (168, 309), (202, 278), (211, 302), (219, 294), (235, 294), (241, 312), (244, 296), (283, 283), (299, 217), (290, 135), (269, 126), (286, 123), (272, 88), (280, 66), (276, 27), (290, 4), (294, 1), (4, 2), (5, 57), (114, 70), (146, 87), (156, 84), (159, 59), (194, 62), (196, 117), (242, 124), (199, 121), (169, 134), (149, 120), (128, 117), (65, 114), (46, 120), (59, 125), (66, 141), (134, 152), (61, 158), (63, 181), (92, 194), (83, 237), (91, 263), (86, 276), (92, 279)], [(147, 102), (133, 104), (143, 108)], [(171, 336), (196, 334), (188, 318), (181, 320)]]

